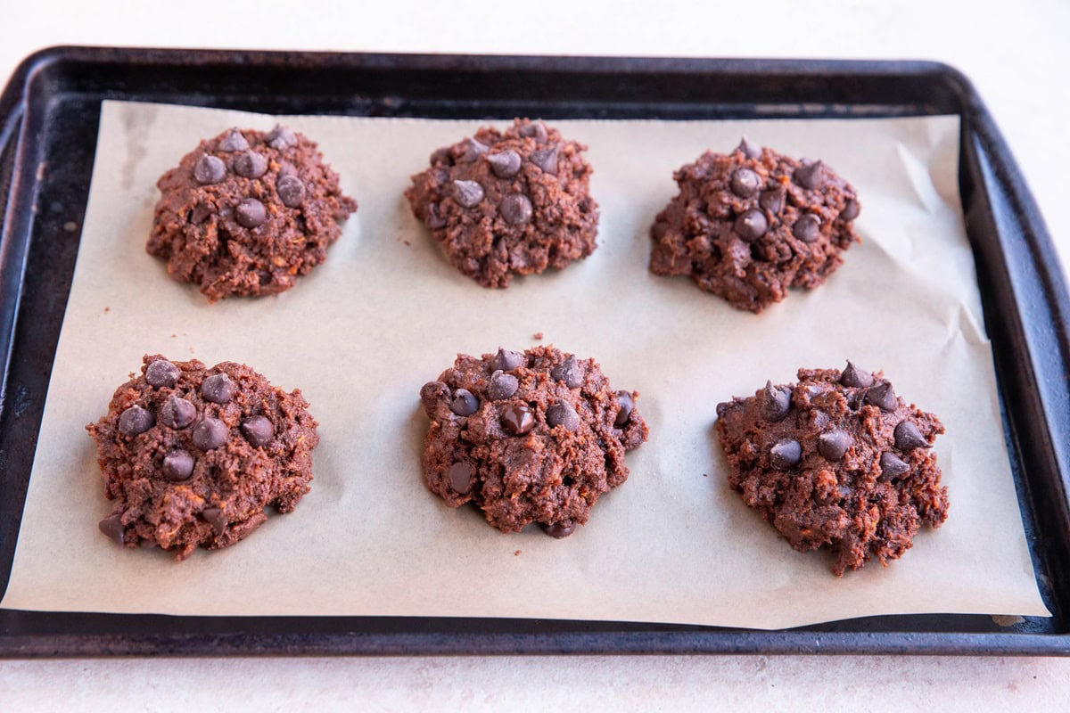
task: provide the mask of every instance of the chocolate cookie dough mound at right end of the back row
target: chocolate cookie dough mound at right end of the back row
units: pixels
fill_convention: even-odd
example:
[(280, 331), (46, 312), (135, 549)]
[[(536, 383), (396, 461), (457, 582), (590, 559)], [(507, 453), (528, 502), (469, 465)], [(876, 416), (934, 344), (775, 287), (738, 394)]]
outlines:
[(822, 161), (744, 139), (673, 175), (676, 196), (651, 230), (651, 272), (690, 275), (739, 309), (761, 312), (794, 286), (816, 288), (858, 242), (854, 188)]

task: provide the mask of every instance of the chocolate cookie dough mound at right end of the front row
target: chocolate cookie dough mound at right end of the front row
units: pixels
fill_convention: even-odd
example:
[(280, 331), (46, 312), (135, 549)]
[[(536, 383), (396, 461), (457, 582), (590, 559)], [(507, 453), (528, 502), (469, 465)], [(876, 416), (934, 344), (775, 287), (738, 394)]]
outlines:
[(795, 549), (828, 545), (837, 575), (887, 564), (921, 523), (947, 518), (929, 450), (944, 425), (850, 361), (842, 372), (799, 369), (798, 379), (717, 406), (729, 483)]

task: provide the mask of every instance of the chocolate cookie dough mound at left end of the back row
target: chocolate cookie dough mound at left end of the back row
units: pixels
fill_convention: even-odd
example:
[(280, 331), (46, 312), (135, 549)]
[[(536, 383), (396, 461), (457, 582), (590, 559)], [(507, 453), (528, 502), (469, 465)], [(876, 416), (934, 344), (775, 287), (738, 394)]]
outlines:
[(316, 144), (284, 126), (201, 141), (156, 183), (148, 250), (209, 301), (293, 286), (326, 259), (356, 211)]

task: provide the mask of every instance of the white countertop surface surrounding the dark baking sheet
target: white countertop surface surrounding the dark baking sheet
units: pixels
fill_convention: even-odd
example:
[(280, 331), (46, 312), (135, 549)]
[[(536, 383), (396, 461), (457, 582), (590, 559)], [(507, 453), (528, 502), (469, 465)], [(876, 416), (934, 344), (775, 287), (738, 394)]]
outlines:
[[(178, 13), (181, 12), (181, 15)], [(0, 80), (59, 44), (927, 59), (975, 83), (1070, 272), (1070, 3), (0, 0)], [(1070, 658), (617, 656), (0, 662), (2, 710), (1066, 710)]]

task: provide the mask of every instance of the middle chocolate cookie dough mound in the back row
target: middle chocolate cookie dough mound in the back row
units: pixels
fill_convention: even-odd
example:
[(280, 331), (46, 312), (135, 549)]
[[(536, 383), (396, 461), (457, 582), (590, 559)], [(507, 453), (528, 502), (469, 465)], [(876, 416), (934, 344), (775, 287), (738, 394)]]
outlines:
[(561, 269), (594, 251), (585, 150), (540, 121), (518, 119), (504, 134), (484, 127), (431, 154), (406, 197), (457, 269), (507, 288), (514, 274)]

